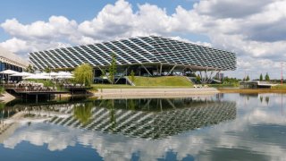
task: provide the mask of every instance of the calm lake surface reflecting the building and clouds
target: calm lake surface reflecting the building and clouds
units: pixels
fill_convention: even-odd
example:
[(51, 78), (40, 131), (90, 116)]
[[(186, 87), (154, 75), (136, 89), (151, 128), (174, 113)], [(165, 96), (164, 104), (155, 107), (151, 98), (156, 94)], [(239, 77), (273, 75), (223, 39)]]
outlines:
[(11, 102), (0, 105), (1, 160), (286, 160), (284, 104), (281, 94)]

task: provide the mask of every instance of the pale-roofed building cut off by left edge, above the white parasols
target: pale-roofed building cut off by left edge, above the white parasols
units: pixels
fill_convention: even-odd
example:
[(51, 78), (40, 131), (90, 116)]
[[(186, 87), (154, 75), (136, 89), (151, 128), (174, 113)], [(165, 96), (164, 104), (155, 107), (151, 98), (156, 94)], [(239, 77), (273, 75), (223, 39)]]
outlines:
[(22, 72), (28, 65), (29, 62), (22, 59), (19, 55), (15, 55), (3, 47), (0, 47), (0, 72), (4, 70)]

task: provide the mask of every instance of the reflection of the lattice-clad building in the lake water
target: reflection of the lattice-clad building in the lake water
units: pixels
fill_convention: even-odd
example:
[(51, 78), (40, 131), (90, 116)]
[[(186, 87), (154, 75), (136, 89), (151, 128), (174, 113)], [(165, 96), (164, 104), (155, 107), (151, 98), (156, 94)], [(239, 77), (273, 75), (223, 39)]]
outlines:
[[(105, 99), (86, 102), (15, 105), (3, 114), (24, 113), (33, 121), (120, 133), (130, 137), (162, 139), (233, 120), (236, 103), (195, 98)], [(7, 119), (6, 119), (7, 120)]]

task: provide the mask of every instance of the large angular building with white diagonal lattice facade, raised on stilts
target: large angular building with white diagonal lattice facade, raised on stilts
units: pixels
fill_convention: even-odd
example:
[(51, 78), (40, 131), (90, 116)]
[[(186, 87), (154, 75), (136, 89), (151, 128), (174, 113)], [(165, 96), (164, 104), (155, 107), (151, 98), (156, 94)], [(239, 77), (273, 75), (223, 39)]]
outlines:
[(137, 75), (172, 75), (236, 69), (234, 53), (155, 36), (38, 51), (29, 53), (29, 60), (38, 70), (88, 63), (99, 76), (108, 72), (112, 55), (116, 56), (117, 71), (125, 75), (132, 70)]

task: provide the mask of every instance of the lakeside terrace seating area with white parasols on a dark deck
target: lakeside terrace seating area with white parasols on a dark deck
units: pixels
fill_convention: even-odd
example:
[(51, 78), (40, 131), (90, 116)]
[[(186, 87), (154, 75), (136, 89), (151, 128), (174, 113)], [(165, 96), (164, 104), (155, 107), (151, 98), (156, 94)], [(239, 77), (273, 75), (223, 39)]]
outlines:
[[(71, 72), (0, 72), (4, 89), (16, 96), (21, 95), (53, 95), (60, 93), (87, 93), (91, 87), (85, 84), (69, 83), (74, 78)], [(11, 79), (17, 77), (17, 79)]]

